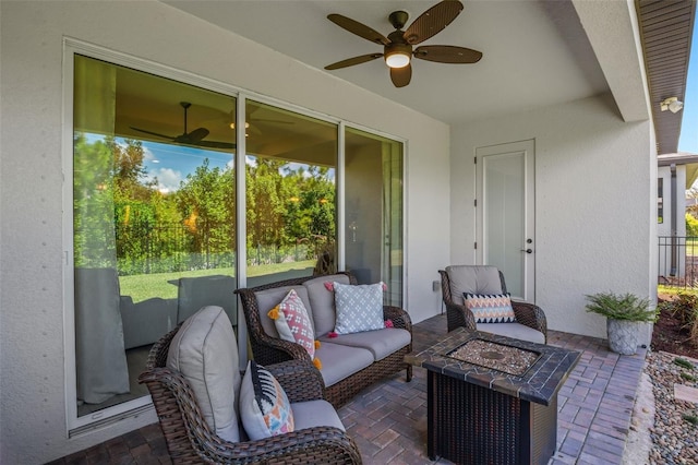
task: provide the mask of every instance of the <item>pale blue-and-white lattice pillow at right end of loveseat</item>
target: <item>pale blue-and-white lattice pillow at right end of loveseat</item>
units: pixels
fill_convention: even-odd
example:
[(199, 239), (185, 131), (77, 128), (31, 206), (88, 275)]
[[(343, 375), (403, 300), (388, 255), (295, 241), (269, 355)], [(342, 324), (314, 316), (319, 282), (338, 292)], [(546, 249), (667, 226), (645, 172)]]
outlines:
[(333, 286), (337, 308), (335, 333), (351, 334), (385, 327), (383, 283), (363, 285), (333, 283)]

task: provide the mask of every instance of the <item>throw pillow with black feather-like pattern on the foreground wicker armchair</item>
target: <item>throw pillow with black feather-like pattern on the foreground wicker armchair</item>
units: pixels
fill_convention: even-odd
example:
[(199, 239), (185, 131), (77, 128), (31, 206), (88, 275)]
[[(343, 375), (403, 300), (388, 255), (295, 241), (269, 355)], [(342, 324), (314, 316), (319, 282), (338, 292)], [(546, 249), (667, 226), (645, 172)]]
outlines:
[(284, 388), (269, 371), (250, 360), (240, 388), (240, 419), (254, 441), (293, 431), (293, 412)]

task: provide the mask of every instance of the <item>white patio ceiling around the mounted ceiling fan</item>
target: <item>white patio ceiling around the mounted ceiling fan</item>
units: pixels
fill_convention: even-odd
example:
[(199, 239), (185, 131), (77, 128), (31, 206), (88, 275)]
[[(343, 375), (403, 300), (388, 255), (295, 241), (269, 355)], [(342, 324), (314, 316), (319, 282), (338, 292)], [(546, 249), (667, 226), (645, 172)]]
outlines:
[[(568, 1), (464, 1), (461, 14), (422, 45), (473, 48), (483, 52), (482, 60), (474, 64), (414, 60), (412, 82), (404, 88), (393, 86), (382, 59), (325, 71), (323, 68), (335, 61), (382, 51), (380, 46), (348, 33), (326, 16), (339, 13), (387, 36), (393, 31), (387, 20), (390, 12), (408, 11), (409, 25), (435, 0), (166, 3), (447, 123), (609, 92), (604, 73)], [(597, 41), (603, 43), (599, 37)]]

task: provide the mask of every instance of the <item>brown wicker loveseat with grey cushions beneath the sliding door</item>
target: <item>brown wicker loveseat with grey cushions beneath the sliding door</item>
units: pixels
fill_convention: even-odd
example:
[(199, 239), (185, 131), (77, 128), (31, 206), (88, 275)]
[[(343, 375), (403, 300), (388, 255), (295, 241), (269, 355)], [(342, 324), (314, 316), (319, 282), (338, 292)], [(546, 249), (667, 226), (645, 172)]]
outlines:
[(325, 398), (335, 407), (344, 405), (364, 388), (402, 369), (406, 370), (407, 381), (410, 381), (412, 367), (404, 360), (405, 355), (412, 350), (409, 314), (400, 308), (384, 306), (383, 319), (390, 320), (393, 327), (333, 337), (336, 315), (334, 295), (325, 286), (332, 282), (357, 284), (354, 276), (342, 272), (236, 290), (241, 297), (254, 359), (262, 365), (293, 359), (311, 361), (302, 346), (278, 336), (274, 322), (267, 317), (267, 312), (290, 289), (296, 289), (311, 313), (315, 338), (321, 343), (315, 357), (322, 360), (320, 372), (325, 383)]

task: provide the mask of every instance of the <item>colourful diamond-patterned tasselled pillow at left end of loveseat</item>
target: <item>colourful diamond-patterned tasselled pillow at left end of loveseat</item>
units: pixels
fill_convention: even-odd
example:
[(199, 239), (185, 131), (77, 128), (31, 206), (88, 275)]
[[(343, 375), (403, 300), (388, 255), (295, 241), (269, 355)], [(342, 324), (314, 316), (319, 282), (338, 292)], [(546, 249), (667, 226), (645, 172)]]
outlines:
[(315, 358), (315, 331), (296, 290), (289, 290), (281, 303), (269, 310), (268, 315), (274, 320), (280, 338), (300, 344), (308, 350), (311, 360)]

